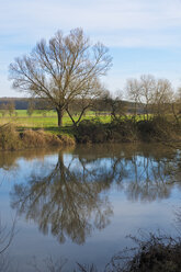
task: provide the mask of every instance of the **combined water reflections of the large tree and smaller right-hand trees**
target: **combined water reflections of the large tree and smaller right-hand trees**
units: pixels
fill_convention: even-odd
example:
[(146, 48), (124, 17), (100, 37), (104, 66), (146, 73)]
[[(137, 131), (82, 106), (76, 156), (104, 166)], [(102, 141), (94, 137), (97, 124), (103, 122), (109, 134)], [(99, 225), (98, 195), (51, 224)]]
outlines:
[[(65, 162), (63, 152), (44, 175), (33, 174), (26, 183), (14, 185), (12, 207), (33, 219), (41, 231), (59, 242), (70, 238), (83, 243), (94, 228), (103, 229), (113, 215), (106, 191), (116, 184), (128, 200), (154, 201), (168, 197), (180, 181), (177, 150), (137, 147), (76, 149)], [(48, 173), (46, 172), (48, 171)]]

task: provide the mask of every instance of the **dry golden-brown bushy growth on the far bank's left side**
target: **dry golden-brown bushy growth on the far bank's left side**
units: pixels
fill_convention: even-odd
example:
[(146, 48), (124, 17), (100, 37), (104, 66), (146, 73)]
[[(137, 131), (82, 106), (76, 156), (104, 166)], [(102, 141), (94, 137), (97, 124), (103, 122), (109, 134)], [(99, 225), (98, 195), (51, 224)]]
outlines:
[(68, 135), (54, 135), (43, 129), (16, 132), (7, 124), (0, 127), (0, 150), (19, 150), (25, 148), (46, 148), (53, 146), (72, 146), (75, 139)]

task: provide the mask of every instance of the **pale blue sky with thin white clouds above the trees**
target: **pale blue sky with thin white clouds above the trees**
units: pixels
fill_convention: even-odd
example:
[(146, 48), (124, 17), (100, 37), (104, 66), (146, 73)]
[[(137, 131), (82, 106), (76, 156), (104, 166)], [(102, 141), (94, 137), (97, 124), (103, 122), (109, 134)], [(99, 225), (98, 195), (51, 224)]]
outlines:
[(1, 0), (0, 97), (24, 95), (8, 80), (15, 57), (79, 26), (110, 48), (113, 67), (103, 81), (112, 92), (142, 73), (181, 86), (181, 0)]

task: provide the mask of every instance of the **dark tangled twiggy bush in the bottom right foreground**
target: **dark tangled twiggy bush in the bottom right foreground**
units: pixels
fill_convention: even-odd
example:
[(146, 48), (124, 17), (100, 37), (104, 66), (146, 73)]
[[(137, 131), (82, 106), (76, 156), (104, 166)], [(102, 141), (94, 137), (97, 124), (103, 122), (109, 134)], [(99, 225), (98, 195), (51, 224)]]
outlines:
[(180, 272), (181, 239), (167, 235), (148, 234), (145, 237), (131, 237), (136, 247), (113, 256), (104, 270), (95, 265), (78, 264), (79, 272)]

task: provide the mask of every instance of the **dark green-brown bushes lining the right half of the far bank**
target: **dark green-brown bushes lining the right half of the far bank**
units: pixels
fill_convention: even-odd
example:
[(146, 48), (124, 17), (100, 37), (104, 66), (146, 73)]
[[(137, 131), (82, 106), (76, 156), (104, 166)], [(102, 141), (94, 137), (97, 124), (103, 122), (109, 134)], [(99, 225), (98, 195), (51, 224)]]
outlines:
[(181, 129), (163, 117), (148, 121), (115, 120), (103, 124), (97, 120), (83, 120), (75, 128), (77, 143), (134, 143), (181, 141)]

